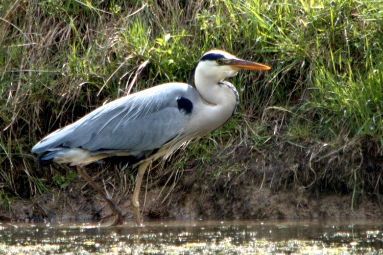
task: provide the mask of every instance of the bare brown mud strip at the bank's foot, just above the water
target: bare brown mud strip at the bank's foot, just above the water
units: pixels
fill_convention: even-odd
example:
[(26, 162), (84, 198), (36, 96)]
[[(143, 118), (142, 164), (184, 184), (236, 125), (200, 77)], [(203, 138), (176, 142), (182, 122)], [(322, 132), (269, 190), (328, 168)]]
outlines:
[[(376, 201), (358, 199), (351, 210), (351, 195), (321, 194), (316, 197), (299, 191), (272, 191), (269, 187), (233, 187), (233, 192), (211, 195), (206, 187), (194, 185), (193, 191), (175, 191), (161, 202), (156, 199), (161, 187), (142, 190), (144, 219), (315, 219), (315, 218), (381, 218), (382, 208)], [(164, 191), (163, 191), (164, 192)], [(146, 201), (145, 200), (146, 195)], [(98, 220), (109, 208), (91, 191), (61, 192), (34, 201), (12, 201), (11, 211), (2, 210), (2, 221), (87, 221)], [(119, 203), (125, 220), (132, 220), (129, 197)]]

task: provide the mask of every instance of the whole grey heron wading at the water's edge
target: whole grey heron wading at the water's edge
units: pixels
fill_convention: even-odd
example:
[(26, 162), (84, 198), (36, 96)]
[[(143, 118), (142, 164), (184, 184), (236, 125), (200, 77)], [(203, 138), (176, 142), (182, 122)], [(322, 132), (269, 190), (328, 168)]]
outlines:
[(105, 104), (41, 141), (32, 152), (41, 165), (52, 162), (77, 166), (79, 174), (105, 199), (123, 223), (116, 203), (87, 174), (85, 166), (113, 156), (130, 156), (137, 167), (131, 210), (141, 225), (138, 195), (148, 165), (169, 157), (185, 142), (225, 124), (238, 106), (238, 92), (224, 79), (238, 70), (268, 70), (269, 66), (210, 50), (197, 62), (188, 83), (166, 83)]

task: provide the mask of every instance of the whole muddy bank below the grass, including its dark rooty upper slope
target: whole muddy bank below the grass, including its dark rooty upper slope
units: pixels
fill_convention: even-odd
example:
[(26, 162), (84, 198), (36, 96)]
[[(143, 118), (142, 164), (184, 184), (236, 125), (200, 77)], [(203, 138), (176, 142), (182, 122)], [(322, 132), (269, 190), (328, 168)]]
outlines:
[[(220, 157), (211, 155), (209, 163), (191, 160), (176, 173), (164, 171), (169, 167), (165, 164), (145, 176), (140, 192), (142, 215), (144, 219), (183, 220), (381, 218), (381, 157), (371, 154), (368, 143), (364, 144), (355, 143), (337, 153), (317, 150), (315, 156), (288, 143), (268, 153), (238, 146)], [(355, 146), (360, 146), (360, 158), (348, 153)], [(358, 177), (365, 177), (360, 179), (364, 186), (356, 183), (363, 189), (354, 192), (349, 169), (355, 166), (359, 166)], [(319, 167), (323, 169), (319, 171)], [(96, 175), (97, 180), (101, 185), (109, 179), (104, 181), (107, 190), (122, 208), (125, 220), (130, 220), (133, 183), (122, 182), (121, 173), (111, 180), (112, 170)], [(90, 169), (89, 173), (98, 172)], [(366, 180), (375, 183), (368, 185)], [(2, 208), (0, 220), (83, 221), (98, 220), (108, 213), (99, 195), (77, 178), (65, 189), (53, 187), (52, 193), (33, 201), (13, 200), (10, 210)]]

